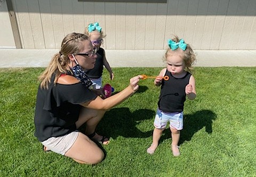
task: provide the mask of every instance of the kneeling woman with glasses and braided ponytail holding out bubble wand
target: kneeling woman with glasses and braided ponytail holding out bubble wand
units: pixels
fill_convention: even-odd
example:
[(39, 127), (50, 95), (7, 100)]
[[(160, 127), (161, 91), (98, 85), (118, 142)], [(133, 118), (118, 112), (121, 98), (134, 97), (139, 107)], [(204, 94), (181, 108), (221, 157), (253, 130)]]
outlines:
[[(103, 151), (92, 141), (108, 144), (106, 137), (95, 133), (105, 112), (123, 102), (138, 90), (140, 75), (130, 79), (130, 85), (107, 99), (91, 90), (91, 80), (84, 69), (92, 69), (97, 55), (89, 37), (70, 33), (39, 77), (35, 110), (35, 136), (45, 151), (54, 151), (73, 158), (78, 163), (97, 164)], [(98, 93), (97, 93), (98, 92)], [(104, 95), (103, 95), (104, 97)], [(86, 123), (85, 134), (77, 131)], [(90, 139), (90, 138), (92, 139)]]

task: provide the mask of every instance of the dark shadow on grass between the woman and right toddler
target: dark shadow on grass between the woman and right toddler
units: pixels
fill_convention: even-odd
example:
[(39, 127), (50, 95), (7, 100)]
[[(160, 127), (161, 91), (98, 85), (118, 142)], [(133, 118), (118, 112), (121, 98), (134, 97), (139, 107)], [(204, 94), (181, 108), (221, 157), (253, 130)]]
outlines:
[(119, 136), (126, 138), (147, 138), (152, 131), (142, 132), (136, 125), (143, 120), (152, 119), (155, 112), (150, 109), (139, 109), (131, 112), (129, 108), (113, 108), (104, 115), (97, 129), (105, 136), (116, 139)]

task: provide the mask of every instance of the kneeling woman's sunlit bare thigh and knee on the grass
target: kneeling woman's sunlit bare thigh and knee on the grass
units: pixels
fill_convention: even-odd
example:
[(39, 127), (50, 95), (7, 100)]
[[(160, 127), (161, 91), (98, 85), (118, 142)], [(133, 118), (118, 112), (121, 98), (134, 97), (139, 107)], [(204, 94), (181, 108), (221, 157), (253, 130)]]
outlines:
[(98, 164), (104, 158), (104, 153), (90, 138), (79, 132), (74, 145), (65, 156), (82, 164)]

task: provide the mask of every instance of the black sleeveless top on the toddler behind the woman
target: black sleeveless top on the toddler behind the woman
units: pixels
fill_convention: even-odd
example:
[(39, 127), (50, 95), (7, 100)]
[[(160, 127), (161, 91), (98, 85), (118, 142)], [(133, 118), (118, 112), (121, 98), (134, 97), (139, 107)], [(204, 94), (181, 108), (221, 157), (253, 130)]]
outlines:
[(104, 49), (99, 48), (97, 51), (97, 59), (93, 69), (85, 70), (85, 73), (91, 79), (98, 79), (102, 76), (103, 72), (103, 56), (104, 56)]

